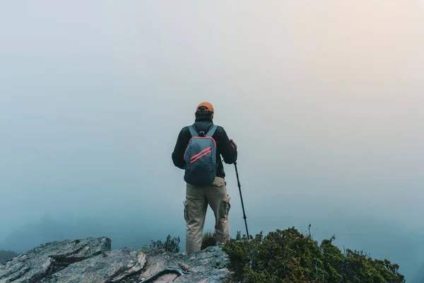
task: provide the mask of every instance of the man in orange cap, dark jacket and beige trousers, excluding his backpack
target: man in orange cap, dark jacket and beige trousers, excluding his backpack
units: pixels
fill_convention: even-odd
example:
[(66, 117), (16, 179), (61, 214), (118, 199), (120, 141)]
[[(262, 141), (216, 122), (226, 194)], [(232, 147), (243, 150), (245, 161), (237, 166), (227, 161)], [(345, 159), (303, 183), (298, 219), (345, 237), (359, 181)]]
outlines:
[[(228, 135), (223, 127), (213, 127), (213, 113), (214, 110), (211, 103), (200, 103), (195, 112), (196, 120), (192, 125), (196, 134), (200, 133), (200, 135), (208, 134), (209, 130), (215, 129), (211, 137), (216, 142), (217, 167), (216, 176), (214, 178), (212, 176), (213, 182), (211, 184), (192, 185), (187, 183), (186, 200), (184, 201), (187, 255), (196, 253), (201, 249), (208, 205), (211, 206), (215, 215), (216, 244), (223, 245), (230, 238), (228, 212), (230, 211), (231, 197), (227, 194), (225, 171), (220, 156), (223, 157), (223, 161), (227, 164), (235, 163), (237, 160), (237, 144), (235, 141), (228, 139)], [(172, 161), (178, 168), (187, 168), (186, 156), (184, 154), (192, 137), (193, 132), (190, 132), (189, 126), (183, 127), (179, 132), (175, 149), (172, 152)], [(211, 159), (210, 156), (209, 159)]]

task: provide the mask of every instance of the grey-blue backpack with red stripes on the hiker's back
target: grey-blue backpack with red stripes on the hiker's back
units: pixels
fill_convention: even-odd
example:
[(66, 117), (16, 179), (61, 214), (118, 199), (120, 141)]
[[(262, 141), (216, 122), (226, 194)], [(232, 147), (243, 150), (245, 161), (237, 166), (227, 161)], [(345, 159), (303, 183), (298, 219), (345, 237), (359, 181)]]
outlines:
[(184, 152), (184, 180), (190, 185), (211, 185), (215, 180), (218, 161), (216, 141), (212, 136), (217, 128), (217, 125), (213, 125), (205, 135), (204, 132), (198, 134), (193, 125), (189, 126), (192, 139)]

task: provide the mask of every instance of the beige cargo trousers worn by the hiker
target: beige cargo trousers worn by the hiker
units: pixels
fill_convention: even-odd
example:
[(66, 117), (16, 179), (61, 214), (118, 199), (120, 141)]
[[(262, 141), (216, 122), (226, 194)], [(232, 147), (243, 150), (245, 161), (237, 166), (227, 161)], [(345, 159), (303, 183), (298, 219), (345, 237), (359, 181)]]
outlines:
[(222, 245), (230, 239), (231, 196), (227, 194), (226, 182), (216, 177), (212, 185), (196, 187), (187, 184), (186, 200), (184, 201), (184, 219), (186, 221), (186, 253), (196, 253), (201, 249), (206, 209), (208, 204), (215, 214), (216, 244)]

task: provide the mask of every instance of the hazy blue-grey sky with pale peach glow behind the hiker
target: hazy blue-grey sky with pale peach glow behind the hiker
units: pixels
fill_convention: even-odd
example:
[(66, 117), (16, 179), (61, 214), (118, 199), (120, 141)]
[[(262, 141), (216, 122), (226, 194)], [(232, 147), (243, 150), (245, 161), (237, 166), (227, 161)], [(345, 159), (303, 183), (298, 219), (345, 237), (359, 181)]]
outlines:
[(0, 43), (0, 248), (184, 239), (170, 156), (208, 100), (251, 233), (424, 266), (423, 1), (1, 1)]

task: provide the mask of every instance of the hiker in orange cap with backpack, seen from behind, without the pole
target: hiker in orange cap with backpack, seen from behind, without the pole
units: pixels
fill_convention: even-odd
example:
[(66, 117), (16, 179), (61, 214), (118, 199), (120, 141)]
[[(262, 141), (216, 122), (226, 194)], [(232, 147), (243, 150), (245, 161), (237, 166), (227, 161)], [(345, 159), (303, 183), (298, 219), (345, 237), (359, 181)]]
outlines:
[(228, 138), (223, 127), (213, 124), (213, 113), (211, 103), (200, 103), (194, 124), (182, 128), (172, 152), (172, 161), (184, 169), (187, 183), (184, 201), (187, 255), (201, 249), (208, 205), (215, 215), (216, 244), (223, 245), (230, 239), (228, 212), (231, 197), (227, 194), (220, 156), (227, 164), (235, 163), (237, 144)]

